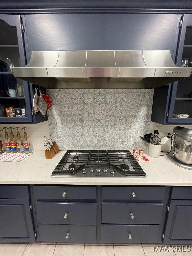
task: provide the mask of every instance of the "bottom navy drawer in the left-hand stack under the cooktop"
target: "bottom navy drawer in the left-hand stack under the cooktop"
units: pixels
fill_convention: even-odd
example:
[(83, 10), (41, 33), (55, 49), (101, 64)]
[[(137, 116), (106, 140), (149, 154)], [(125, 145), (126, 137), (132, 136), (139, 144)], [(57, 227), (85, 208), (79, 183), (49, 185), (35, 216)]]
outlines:
[(88, 225), (39, 225), (43, 242), (96, 243), (96, 226)]

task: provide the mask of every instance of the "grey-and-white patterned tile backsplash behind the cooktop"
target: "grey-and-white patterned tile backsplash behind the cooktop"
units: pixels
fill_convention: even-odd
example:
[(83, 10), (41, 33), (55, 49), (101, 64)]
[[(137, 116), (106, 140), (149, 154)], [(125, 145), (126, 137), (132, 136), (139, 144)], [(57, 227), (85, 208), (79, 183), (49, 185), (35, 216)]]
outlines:
[(47, 89), (49, 132), (61, 150), (143, 148), (153, 89)]

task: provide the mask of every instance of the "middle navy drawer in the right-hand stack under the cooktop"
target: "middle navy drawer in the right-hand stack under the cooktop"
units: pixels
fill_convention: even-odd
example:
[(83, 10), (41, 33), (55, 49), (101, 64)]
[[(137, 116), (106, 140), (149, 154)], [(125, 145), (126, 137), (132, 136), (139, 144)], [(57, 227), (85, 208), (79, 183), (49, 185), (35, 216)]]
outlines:
[(102, 223), (160, 224), (162, 203), (102, 203)]

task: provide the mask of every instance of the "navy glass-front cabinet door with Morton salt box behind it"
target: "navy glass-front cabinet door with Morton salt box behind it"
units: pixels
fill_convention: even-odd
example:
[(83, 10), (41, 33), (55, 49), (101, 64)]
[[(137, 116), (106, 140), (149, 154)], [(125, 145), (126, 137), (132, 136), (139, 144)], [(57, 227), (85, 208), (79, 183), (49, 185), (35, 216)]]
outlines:
[(33, 122), (27, 82), (12, 67), (26, 65), (20, 15), (0, 15), (0, 123)]

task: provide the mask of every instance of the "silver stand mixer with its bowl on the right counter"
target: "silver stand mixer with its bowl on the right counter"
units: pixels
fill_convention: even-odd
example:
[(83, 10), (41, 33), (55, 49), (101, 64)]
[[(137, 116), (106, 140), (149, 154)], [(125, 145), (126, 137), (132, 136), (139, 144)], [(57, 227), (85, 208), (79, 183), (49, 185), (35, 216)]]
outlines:
[(192, 129), (181, 126), (173, 129), (173, 145), (167, 156), (174, 164), (192, 170)]

